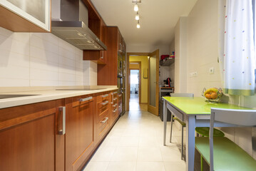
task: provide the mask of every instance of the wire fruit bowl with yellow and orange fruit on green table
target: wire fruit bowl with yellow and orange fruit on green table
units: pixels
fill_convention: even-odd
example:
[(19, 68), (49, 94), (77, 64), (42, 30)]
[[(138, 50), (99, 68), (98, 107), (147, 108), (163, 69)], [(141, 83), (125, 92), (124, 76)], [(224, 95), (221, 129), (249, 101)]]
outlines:
[(217, 103), (222, 97), (222, 88), (203, 88), (202, 96), (207, 102)]

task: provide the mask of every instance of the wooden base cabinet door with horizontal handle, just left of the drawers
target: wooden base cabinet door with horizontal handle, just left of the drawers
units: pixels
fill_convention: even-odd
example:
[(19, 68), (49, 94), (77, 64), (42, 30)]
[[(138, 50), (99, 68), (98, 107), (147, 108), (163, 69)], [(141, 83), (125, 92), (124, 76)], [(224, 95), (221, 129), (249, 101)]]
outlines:
[(80, 170), (93, 151), (93, 95), (66, 99), (66, 171)]

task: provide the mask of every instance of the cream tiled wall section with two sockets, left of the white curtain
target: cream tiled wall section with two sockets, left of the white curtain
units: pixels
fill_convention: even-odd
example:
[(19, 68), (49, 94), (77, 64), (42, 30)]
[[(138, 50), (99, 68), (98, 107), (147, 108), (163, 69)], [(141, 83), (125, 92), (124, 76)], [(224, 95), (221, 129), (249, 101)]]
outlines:
[[(209, 69), (215, 68), (210, 74)], [(199, 0), (188, 16), (188, 92), (222, 87), (217, 63), (217, 1)], [(190, 73), (198, 72), (197, 77)]]

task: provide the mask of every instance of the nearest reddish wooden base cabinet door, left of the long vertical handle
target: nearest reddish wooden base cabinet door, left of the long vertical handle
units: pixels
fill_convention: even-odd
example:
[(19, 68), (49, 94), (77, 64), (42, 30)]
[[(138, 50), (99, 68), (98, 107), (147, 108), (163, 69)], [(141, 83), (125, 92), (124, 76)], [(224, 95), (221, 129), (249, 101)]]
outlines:
[(0, 110), (0, 170), (64, 169), (64, 136), (57, 135), (56, 123), (62, 104), (52, 100)]

